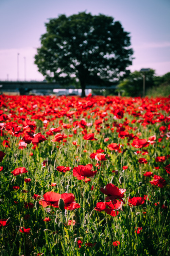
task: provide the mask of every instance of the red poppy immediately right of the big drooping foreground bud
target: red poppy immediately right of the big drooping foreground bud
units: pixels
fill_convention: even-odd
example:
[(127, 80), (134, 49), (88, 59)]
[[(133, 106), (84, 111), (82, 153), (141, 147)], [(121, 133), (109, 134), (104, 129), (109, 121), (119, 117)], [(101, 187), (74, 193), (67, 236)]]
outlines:
[(75, 196), (72, 193), (61, 194), (61, 198), (65, 204), (64, 209), (71, 211), (80, 208), (80, 205), (74, 201)]

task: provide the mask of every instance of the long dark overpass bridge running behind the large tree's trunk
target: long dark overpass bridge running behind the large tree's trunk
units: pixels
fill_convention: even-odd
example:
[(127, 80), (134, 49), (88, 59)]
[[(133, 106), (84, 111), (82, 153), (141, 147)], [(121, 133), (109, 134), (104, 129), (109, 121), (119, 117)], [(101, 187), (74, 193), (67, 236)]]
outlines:
[[(115, 90), (116, 85), (109, 87), (100, 87), (94, 85), (86, 86), (86, 89), (109, 89)], [(0, 81), (0, 91), (19, 91), (20, 95), (28, 94), (31, 90), (38, 91), (53, 91), (53, 89), (75, 89), (75, 86), (70, 85), (64, 87), (58, 83), (47, 83), (46, 81)]]

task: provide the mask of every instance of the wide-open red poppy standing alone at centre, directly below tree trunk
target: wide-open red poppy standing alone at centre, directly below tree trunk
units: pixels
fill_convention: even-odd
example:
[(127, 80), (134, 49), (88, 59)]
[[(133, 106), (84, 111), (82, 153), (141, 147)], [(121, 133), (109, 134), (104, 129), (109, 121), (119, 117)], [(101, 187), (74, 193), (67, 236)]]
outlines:
[(85, 177), (94, 177), (97, 171), (91, 171), (92, 164), (89, 165), (79, 165), (73, 168), (73, 176), (79, 177), (79, 180), (83, 180)]

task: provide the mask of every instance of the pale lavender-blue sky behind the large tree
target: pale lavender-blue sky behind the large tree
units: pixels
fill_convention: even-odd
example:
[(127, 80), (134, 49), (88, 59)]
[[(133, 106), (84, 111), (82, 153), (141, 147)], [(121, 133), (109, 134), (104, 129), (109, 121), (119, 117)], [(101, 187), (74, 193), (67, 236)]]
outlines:
[(132, 72), (170, 72), (170, 0), (0, 0), (0, 80), (43, 80), (34, 56), (45, 23), (82, 11), (112, 16), (130, 32)]

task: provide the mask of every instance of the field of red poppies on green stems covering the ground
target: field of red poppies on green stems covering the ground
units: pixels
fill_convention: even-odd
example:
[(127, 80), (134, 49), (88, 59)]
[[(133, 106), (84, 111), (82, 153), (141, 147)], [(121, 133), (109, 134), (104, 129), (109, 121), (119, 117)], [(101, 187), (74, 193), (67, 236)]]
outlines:
[(1, 255), (170, 255), (170, 97), (0, 106)]

